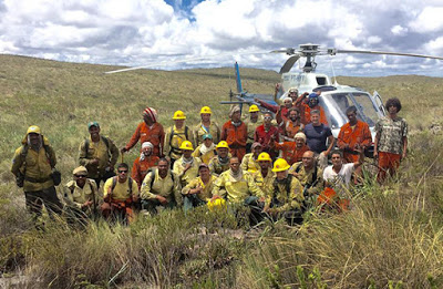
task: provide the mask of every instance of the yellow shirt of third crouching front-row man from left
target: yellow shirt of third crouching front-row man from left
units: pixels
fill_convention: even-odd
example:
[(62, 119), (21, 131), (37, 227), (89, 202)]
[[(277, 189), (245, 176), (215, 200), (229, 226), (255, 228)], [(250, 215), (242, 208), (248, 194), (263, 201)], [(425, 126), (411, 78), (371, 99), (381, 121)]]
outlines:
[[(155, 173), (155, 174), (154, 174)], [(175, 199), (178, 206), (182, 205), (182, 186), (179, 184), (179, 178), (174, 174), (174, 180), (169, 172), (165, 178), (158, 175), (158, 169), (155, 172), (150, 172), (142, 183), (141, 197), (142, 199), (155, 199), (156, 195), (165, 197), (167, 202)], [(153, 186), (151, 187), (152, 178), (154, 177)]]

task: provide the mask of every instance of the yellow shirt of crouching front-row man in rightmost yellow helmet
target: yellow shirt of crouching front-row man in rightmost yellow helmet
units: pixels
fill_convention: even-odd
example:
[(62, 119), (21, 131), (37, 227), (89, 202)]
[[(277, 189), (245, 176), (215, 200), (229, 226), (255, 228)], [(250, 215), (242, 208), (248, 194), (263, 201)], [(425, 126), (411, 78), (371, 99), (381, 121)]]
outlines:
[[(274, 179), (276, 179), (276, 177)], [(301, 203), (305, 199), (303, 187), (296, 177), (292, 177), (289, 192), (286, 190), (285, 184), (277, 183), (277, 188), (278, 189), (275, 189), (269, 198), (270, 200), (277, 199), (280, 204), (278, 207), (276, 207), (277, 211), (286, 211), (301, 207)]]

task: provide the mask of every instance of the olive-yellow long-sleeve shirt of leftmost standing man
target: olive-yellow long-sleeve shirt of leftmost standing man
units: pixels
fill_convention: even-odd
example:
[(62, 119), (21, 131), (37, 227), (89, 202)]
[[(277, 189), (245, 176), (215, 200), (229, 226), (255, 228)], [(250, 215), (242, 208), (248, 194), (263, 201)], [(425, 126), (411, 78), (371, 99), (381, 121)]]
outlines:
[[(48, 140), (43, 140), (43, 142), (48, 145)], [(55, 165), (55, 153), (51, 147), (48, 147), (48, 154), (50, 159)], [(23, 159), (22, 156), (23, 146), (16, 149), (14, 156), (12, 158), (11, 172), (16, 176), (19, 174), (23, 174), (24, 172), (24, 192), (37, 192), (50, 188), (54, 185), (52, 180), (51, 174), (52, 168), (50, 165), (50, 159), (48, 158), (47, 152), (42, 146), (38, 152), (29, 146), (28, 153)], [(27, 180), (33, 179), (37, 182)]]

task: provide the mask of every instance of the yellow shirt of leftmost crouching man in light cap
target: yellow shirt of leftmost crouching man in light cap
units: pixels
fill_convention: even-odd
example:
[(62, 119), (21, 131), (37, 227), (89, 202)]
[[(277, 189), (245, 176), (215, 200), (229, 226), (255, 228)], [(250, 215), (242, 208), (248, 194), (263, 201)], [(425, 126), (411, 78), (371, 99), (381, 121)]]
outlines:
[(83, 188), (79, 187), (75, 180), (70, 180), (64, 186), (64, 200), (70, 206), (82, 208), (82, 205), (87, 200), (95, 200), (95, 205), (99, 204), (99, 189), (95, 180), (87, 178)]

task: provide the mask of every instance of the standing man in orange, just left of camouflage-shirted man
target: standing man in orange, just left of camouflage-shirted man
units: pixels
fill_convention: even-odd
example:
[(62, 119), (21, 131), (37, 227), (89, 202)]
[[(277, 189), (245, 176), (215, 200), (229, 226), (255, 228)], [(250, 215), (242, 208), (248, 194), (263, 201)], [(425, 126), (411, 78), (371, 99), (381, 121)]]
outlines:
[[(347, 163), (356, 163), (359, 158), (357, 147), (361, 149), (368, 148), (372, 143), (371, 131), (369, 125), (357, 118), (357, 107), (349, 106), (346, 111), (349, 122), (341, 126), (339, 136), (337, 137), (337, 146), (342, 149), (343, 158)], [(354, 171), (354, 183), (359, 183), (361, 176), (361, 168), (359, 166)]]

